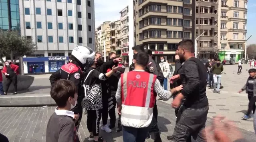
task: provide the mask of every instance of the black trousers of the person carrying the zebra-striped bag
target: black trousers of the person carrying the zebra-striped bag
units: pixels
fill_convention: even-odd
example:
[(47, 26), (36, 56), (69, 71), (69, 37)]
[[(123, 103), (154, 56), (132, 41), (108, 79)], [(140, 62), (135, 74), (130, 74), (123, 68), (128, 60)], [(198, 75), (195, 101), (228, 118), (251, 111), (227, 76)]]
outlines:
[(93, 136), (99, 136), (99, 124), (102, 110), (87, 110), (87, 129)]

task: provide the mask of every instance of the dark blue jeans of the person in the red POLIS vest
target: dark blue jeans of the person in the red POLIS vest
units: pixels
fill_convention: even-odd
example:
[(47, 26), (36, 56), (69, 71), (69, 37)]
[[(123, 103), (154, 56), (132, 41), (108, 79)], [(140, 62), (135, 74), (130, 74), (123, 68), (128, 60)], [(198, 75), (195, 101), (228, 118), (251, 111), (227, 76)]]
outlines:
[(149, 127), (133, 128), (123, 126), (123, 142), (145, 142)]

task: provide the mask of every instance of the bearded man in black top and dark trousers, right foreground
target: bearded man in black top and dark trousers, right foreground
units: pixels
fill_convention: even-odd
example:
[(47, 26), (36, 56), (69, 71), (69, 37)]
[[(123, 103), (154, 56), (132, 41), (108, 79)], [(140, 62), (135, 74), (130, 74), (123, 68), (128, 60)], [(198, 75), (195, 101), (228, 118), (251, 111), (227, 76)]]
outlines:
[(173, 132), (174, 142), (186, 142), (192, 136), (197, 142), (206, 142), (205, 126), (209, 110), (206, 96), (206, 67), (197, 58), (192, 57), (194, 43), (190, 39), (183, 40), (178, 45), (178, 55), (185, 62), (179, 75), (171, 77), (171, 82), (181, 79), (184, 86), (173, 100), (172, 107), (179, 108)]

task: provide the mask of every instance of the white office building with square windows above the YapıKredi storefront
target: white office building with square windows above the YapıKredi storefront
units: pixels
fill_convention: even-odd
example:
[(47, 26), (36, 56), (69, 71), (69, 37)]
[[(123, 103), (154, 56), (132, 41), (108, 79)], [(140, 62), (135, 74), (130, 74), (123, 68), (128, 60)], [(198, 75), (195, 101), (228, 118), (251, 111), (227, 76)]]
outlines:
[[(2, 18), (4, 23), (8, 23), (10, 28), (20, 25), (21, 35), (32, 38), (37, 46), (33, 55), (23, 59), (24, 73), (57, 71), (67, 63), (76, 45), (94, 49), (94, 0), (2, 0), (1, 2), (3, 1), (8, 1), (10, 4), (6, 6), (10, 8), (9, 19)], [(5, 7), (2, 3), (1, 6)], [(17, 17), (16, 21), (12, 20), (14, 15)], [(14, 23), (9, 23), (10, 21)]]

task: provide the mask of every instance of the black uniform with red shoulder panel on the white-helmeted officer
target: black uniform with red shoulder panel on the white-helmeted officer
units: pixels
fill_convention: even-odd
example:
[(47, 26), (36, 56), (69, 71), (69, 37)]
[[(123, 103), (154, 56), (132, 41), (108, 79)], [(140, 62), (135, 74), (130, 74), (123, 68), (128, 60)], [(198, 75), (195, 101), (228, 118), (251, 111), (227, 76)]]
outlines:
[(62, 67), (52, 73), (50, 76), (50, 84), (53, 85), (55, 81), (59, 79), (67, 79), (75, 83), (78, 90), (78, 98), (77, 98), (77, 105), (75, 108), (73, 108), (71, 111), (74, 112), (74, 114), (79, 114), (79, 119), (75, 123), (75, 126), (77, 127), (77, 130), (79, 129), (79, 124), (82, 119), (83, 115), (83, 108), (81, 106), (82, 100), (85, 97), (84, 88), (83, 88), (83, 77), (82, 77), (82, 69), (78, 66), (71, 63), (68, 63), (66, 65), (62, 65)]

